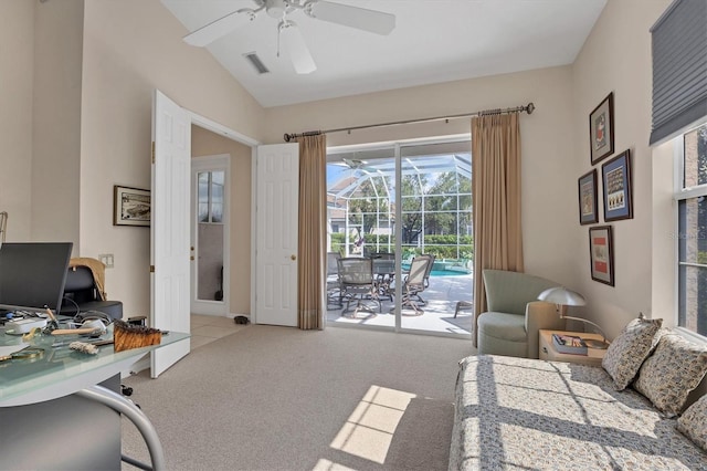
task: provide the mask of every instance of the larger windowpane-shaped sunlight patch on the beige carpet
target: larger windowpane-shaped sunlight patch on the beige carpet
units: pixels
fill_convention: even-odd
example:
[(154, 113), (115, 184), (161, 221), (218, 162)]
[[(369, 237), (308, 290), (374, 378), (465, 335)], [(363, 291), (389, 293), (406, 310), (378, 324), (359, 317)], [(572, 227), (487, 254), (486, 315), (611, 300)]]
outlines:
[(330, 447), (384, 463), (395, 429), (414, 394), (371, 386)]

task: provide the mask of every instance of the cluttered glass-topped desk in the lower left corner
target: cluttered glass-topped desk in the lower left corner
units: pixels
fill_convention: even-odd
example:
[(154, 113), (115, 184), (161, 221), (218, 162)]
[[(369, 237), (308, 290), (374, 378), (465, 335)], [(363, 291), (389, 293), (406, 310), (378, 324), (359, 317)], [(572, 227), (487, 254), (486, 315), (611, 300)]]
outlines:
[[(159, 346), (188, 337), (170, 333)], [(86, 355), (52, 348), (56, 339), (31, 341), (41, 357), (0, 363), (0, 469), (119, 470), (120, 415), (92, 395), (102, 385), (118, 396), (120, 371), (159, 346), (115, 353), (105, 345)], [(0, 329), (1, 346), (19, 343)]]

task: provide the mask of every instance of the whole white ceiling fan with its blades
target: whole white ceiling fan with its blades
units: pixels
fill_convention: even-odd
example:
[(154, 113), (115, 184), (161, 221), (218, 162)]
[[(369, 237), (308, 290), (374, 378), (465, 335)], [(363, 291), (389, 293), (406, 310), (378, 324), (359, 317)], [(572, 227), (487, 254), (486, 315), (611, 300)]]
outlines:
[(229, 13), (187, 34), (183, 40), (191, 45), (205, 46), (253, 21), (260, 12), (265, 11), (268, 17), (279, 20), (277, 24), (278, 39), (282, 40), (284, 48), (287, 50), (295, 72), (308, 74), (316, 71), (317, 66), (297, 28), (297, 23), (288, 19), (288, 14), (302, 10), (309, 18), (382, 35), (390, 34), (395, 28), (394, 14), (325, 0), (253, 1), (255, 2), (254, 9), (243, 8)]

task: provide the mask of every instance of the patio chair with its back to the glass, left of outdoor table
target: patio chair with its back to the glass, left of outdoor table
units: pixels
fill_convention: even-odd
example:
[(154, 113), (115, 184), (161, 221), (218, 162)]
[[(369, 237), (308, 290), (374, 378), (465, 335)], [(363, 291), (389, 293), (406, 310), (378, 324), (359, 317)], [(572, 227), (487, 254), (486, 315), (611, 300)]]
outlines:
[(346, 300), (346, 308), (341, 314), (351, 312), (350, 305), (356, 302), (352, 317), (356, 318), (359, 311), (376, 313), (366, 304), (367, 301), (377, 303), (381, 312), (381, 303), (378, 297), (378, 289), (373, 279), (373, 260), (361, 257), (346, 257), (337, 260), (339, 272), (339, 285), (341, 300)]

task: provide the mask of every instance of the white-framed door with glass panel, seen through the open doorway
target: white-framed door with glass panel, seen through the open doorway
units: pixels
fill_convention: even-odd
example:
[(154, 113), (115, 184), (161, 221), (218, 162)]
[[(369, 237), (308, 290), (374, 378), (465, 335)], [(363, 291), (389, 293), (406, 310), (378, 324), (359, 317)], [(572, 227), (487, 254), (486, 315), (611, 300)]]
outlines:
[(228, 315), (229, 156), (192, 158), (191, 312)]

